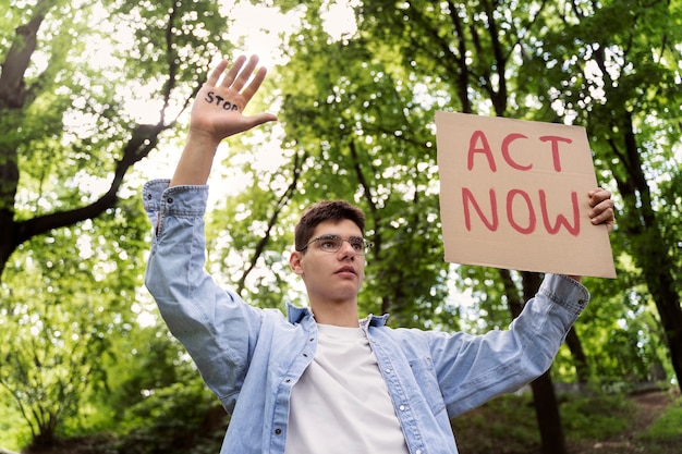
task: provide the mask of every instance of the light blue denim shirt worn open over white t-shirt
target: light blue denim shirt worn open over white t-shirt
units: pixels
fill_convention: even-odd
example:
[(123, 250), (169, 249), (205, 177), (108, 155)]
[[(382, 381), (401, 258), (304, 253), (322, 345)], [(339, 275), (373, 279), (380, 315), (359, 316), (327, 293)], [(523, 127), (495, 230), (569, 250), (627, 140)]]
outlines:
[[(231, 415), (221, 454), (283, 454), (291, 390), (310, 364), (317, 324), (308, 308), (246, 304), (205, 270), (207, 186), (145, 184), (154, 225), (145, 284), (172, 334)], [(485, 335), (361, 322), (412, 454), (456, 454), (450, 418), (544, 373), (589, 299), (576, 281), (547, 275), (509, 327)]]

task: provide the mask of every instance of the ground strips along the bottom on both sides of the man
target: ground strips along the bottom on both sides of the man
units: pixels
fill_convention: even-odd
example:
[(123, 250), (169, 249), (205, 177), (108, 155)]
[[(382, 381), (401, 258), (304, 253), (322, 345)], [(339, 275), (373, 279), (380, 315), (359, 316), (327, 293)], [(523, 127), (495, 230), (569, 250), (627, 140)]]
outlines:
[[(677, 391), (562, 395), (560, 401), (570, 454), (682, 453), (682, 398)], [(97, 435), (62, 440), (50, 449), (25, 450), (23, 454), (216, 454), (224, 428), (210, 426), (211, 434), (192, 446), (183, 442), (196, 433), (183, 434), (175, 426), (168, 433), (143, 429), (127, 439)], [(539, 453), (529, 394), (499, 397), (454, 419), (452, 427), (461, 454)]]

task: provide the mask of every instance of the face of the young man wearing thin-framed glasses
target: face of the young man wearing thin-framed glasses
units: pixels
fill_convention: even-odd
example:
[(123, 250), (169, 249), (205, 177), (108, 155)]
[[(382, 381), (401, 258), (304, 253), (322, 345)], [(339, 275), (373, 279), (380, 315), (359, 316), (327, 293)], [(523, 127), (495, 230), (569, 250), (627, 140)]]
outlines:
[[(325, 221), (315, 228), (310, 237), (336, 235), (348, 240), (362, 237), (351, 220)], [(365, 256), (348, 241), (338, 251), (325, 250), (324, 241), (313, 241), (304, 251), (294, 251), (290, 258), (293, 271), (301, 275), (310, 304), (356, 303), (357, 292), (365, 278)]]

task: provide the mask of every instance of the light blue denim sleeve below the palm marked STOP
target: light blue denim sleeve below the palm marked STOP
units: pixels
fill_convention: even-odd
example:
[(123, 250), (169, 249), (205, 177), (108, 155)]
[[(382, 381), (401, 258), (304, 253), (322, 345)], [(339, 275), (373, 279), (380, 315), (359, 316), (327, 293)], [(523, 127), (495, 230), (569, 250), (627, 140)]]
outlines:
[(143, 188), (154, 228), (145, 285), (208, 386), (230, 402), (243, 383), (261, 311), (220, 287), (205, 270), (208, 186), (168, 185), (168, 180), (155, 180)]

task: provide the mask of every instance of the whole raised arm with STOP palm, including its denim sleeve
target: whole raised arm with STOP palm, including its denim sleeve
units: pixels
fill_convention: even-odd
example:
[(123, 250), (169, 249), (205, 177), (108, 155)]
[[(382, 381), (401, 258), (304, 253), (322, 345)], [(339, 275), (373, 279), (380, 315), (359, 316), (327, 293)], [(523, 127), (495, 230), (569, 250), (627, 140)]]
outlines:
[(229, 70), (227, 61), (216, 66), (192, 107), (187, 142), (170, 182), (175, 187), (168, 187), (168, 180), (154, 181), (143, 192), (156, 233), (145, 284), (228, 409), (243, 383), (261, 311), (220, 289), (205, 269), (206, 182), (222, 139), (277, 119), (242, 115), (266, 74), (265, 69), (254, 74), (257, 62), (240, 57)]

